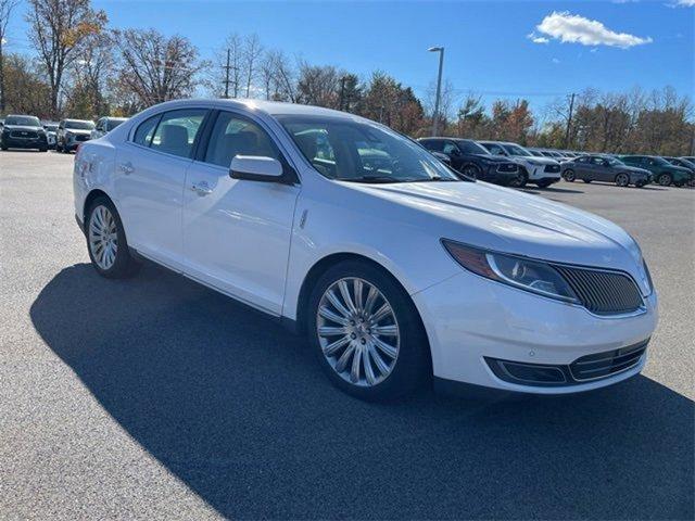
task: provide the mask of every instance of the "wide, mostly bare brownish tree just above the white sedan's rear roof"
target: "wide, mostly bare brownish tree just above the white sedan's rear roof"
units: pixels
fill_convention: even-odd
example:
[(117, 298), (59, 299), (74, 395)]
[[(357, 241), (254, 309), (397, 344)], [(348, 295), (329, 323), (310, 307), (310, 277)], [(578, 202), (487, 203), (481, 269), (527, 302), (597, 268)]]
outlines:
[(182, 36), (166, 37), (154, 29), (115, 31), (119, 51), (116, 89), (132, 92), (136, 107), (190, 97), (207, 64)]

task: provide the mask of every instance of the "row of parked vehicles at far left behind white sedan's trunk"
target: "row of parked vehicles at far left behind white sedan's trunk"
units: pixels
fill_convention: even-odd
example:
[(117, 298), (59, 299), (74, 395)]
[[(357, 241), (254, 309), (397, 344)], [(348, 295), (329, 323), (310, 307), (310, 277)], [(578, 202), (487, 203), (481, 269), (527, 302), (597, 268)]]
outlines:
[(113, 130), (127, 118), (100, 117), (90, 119), (62, 119), (41, 122), (30, 115), (9, 115), (0, 122), (0, 149), (29, 149), (46, 152), (72, 152), (79, 143), (97, 139)]

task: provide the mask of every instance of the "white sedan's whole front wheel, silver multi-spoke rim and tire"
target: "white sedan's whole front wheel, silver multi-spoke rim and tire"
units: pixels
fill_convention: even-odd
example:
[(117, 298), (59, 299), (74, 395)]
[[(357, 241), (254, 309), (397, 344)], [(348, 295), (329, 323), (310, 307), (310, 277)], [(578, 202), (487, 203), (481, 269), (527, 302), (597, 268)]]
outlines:
[[(361, 306), (355, 305), (356, 280), (363, 289)], [(372, 289), (379, 296), (363, 318), (379, 315), (375, 309), (382, 312), (384, 306), (390, 313), (382, 313), (376, 322), (359, 322), (354, 308), (368, 306)], [(377, 328), (384, 332), (375, 333)], [(366, 262), (342, 262), (318, 279), (308, 301), (307, 334), (330, 381), (361, 399), (394, 399), (413, 392), (432, 374), (427, 335), (410, 297), (386, 270)]]

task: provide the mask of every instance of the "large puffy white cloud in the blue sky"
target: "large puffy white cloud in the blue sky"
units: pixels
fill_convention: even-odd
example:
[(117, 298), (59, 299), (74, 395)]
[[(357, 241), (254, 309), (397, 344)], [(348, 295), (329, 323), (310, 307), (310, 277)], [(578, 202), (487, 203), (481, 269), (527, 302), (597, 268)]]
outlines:
[[(695, 1), (695, 0), (681, 0)], [(548, 14), (535, 28), (563, 43), (581, 43), (582, 46), (610, 46), (628, 49), (634, 46), (650, 43), (652, 38), (616, 33), (596, 20), (570, 14), (567, 11)], [(533, 34), (533, 33), (532, 33)], [(543, 38), (543, 37), (541, 37)]]

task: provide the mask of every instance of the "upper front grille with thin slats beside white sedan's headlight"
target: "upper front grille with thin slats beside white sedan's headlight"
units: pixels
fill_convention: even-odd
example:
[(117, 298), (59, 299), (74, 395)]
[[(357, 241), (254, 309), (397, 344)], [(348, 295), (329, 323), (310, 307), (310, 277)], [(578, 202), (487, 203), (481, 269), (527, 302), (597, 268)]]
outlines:
[(567, 280), (582, 305), (596, 315), (622, 315), (644, 305), (640, 288), (627, 274), (572, 266), (553, 266)]

